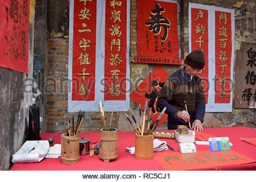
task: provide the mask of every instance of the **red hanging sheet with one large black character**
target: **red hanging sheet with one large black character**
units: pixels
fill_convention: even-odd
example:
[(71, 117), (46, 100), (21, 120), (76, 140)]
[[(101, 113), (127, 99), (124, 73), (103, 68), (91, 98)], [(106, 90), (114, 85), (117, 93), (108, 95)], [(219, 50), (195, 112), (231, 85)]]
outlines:
[(172, 61), (179, 58), (177, 3), (138, 0), (137, 18), (137, 55), (154, 59), (137, 62), (156, 63), (157, 59), (158, 64), (182, 64), (182, 61)]

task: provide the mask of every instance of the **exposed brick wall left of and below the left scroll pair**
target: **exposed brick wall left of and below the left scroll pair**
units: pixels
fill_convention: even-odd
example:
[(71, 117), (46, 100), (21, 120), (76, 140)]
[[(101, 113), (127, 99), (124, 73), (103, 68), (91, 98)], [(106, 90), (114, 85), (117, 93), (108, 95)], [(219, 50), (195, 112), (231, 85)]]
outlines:
[[(47, 61), (44, 92), (46, 94), (46, 132), (64, 132), (69, 119), (78, 113), (68, 113), (68, 39), (51, 38), (47, 42)], [(106, 123), (111, 113), (106, 112)], [(113, 113), (112, 126), (118, 127), (119, 113)], [(81, 131), (102, 128), (98, 112), (85, 113)], [(129, 130), (129, 127), (127, 127)]]

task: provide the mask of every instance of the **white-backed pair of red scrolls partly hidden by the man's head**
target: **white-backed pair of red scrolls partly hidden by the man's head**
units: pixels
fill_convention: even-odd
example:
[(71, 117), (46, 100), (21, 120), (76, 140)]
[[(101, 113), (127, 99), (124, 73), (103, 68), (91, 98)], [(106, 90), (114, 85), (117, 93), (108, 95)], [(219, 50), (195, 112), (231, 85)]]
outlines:
[(202, 49), (206, 111), (232, 111), (234, 10), (189, 3), (189, 51)]

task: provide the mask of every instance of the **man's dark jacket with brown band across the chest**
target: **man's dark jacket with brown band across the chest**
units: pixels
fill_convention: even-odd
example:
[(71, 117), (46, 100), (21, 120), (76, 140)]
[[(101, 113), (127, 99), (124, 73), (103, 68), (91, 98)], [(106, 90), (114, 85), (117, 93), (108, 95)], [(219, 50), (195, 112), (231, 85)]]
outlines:
[(188, 126), (187, 122), (176, 117), (179, 111), (185, 110), (184, 101), (187, 104), (191, 125), (195, 119), (199, 119), (203, 123), (205, 96), (201, 79), (198, 76), (193, 76), (191, 80), (191, 76), (185, 72), (185, 67), (168, 77), (158, 96), (158, 111), (167, 107), (165, 113), (168, 114), (169, 130), (177, 129), (177, 125)]

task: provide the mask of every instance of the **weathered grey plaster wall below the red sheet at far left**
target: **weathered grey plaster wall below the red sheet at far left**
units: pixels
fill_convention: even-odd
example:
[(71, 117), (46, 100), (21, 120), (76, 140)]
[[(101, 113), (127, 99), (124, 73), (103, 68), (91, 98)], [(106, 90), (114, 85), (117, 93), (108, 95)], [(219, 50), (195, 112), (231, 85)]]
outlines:
[(11, 155), (23, 142), (27, 111), (24, 106), (23, 73), (0, 68), (0, 169), (9, 169)]

